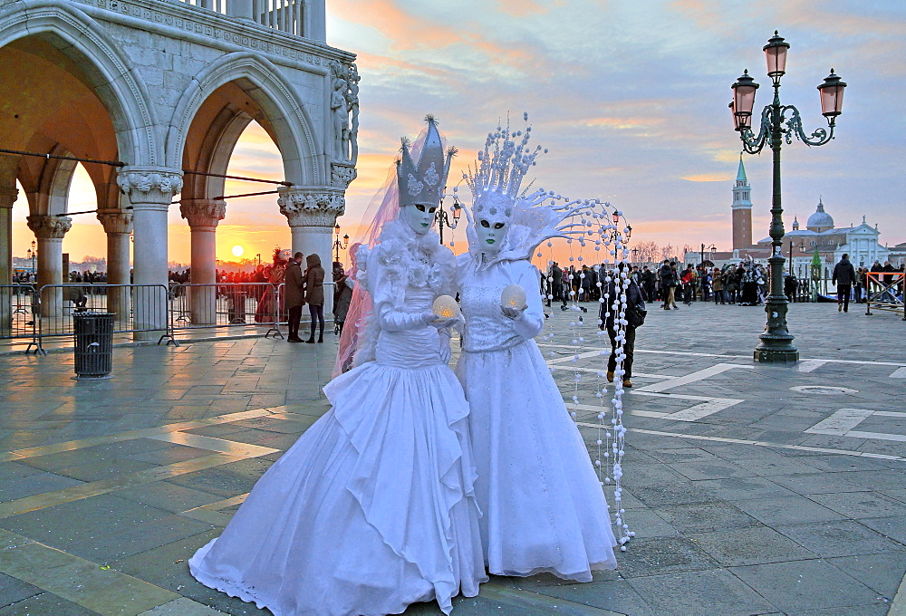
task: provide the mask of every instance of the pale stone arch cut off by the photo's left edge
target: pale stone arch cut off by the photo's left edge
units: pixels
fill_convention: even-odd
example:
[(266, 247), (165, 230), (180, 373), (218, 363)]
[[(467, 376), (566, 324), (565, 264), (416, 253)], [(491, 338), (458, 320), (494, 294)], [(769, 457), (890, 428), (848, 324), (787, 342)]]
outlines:
[(20, 0), (0, 10), (0, 23), (0, 48), (37, 36), (80, 67), (111, 115), (120, 159), (159, 164), (158, 123), (148, 91), (100, 24), (65, 0)]

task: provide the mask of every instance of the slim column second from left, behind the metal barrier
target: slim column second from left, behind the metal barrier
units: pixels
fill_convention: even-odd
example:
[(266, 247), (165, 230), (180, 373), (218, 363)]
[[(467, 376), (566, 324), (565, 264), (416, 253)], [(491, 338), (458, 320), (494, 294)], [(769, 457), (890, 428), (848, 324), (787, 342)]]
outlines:
[[(72, 218), (35, 214), (26, 220), (38, 241), (38, 288), (45, 284), (68, 283), (68, 273), (63, 272), (63, 236), (72, 227)], [(46, 323), (44, 331), (62, 326), (53, 320), (63, 317), (63, 289), (48, 289), (39, 295), (39, 299), (42, 318), (52, 321)]]

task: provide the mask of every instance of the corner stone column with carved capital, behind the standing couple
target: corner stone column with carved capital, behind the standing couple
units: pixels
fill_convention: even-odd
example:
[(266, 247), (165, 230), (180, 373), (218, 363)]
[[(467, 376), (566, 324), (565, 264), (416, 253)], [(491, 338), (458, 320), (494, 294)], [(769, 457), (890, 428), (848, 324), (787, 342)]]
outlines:
[[(280, 188), (277, 204), (293, 233), (293, 254), (321, 257), (324, 283), (333, 282), (333, 226), (346, 209), (340, 188)], [(303, 271), (305, 264), (302, 265)], [(324, 286), (324, 318), (333, 318), (333, 284)]]

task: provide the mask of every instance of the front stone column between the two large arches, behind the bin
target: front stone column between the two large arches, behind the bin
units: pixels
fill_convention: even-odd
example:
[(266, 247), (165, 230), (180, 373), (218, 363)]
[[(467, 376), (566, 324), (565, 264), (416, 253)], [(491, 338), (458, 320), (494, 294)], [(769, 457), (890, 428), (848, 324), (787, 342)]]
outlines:
[(167, 329), (167, 210), (182, 189), (182, 171), (162, 167), (123, 167), (117, 177), (132, 204), (132, 283), (136, 288), (135, 340), (152, 340)]

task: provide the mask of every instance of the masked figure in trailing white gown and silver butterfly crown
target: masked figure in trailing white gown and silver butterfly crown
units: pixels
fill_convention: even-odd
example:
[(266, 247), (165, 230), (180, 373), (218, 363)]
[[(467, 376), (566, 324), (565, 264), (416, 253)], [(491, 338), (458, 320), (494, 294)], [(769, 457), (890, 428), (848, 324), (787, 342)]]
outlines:
[(487, 579), (467, 402), (439, 332), (450, 322), (431, 313), (454, 270), (431, 230), (452, 153), (433, 119), (411, 154), (404, 142), (380, 236), (358, 251), (353, 302), (371, 310), (356, 367), (324, 388), (333, 408), (189, 561), (199, 582), (276, 616), (358, 616), (432, 599), (449, 613)]

